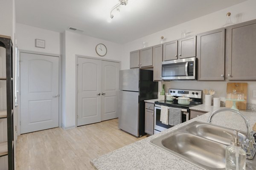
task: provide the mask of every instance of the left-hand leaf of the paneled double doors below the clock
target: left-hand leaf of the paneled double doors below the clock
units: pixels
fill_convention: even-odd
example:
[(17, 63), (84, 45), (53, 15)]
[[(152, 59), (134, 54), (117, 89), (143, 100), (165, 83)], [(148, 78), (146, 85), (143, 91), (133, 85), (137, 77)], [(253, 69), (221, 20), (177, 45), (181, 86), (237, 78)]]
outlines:
[(101, 121), (101, 61), (78, 57), (77, 125)]

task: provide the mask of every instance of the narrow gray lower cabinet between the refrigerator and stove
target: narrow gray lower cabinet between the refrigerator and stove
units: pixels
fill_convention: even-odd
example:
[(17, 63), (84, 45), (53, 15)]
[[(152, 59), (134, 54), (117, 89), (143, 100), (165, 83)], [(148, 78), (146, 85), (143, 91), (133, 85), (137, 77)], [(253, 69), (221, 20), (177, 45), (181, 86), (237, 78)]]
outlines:
[(145, 133), (154, 134), (154, 104), (145, 102)]

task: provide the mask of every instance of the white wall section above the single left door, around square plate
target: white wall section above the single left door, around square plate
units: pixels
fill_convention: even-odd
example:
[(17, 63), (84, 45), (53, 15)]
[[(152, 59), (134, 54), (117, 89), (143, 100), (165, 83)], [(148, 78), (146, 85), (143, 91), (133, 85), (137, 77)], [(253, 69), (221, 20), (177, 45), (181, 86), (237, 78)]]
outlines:
[[(60, 55), (60, 33), (16, 23), (16, 39), (20, 50)], [(45, 48), (35, 47), (35, 39), (45, 40)]]

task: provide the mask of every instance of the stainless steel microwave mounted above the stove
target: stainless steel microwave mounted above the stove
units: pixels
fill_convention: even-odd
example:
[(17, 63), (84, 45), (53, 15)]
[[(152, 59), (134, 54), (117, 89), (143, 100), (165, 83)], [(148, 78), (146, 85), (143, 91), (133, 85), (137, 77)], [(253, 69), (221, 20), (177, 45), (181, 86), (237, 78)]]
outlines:
[(195, 80), (197, 58), (175, 59), (162, 62), (162, 80)]

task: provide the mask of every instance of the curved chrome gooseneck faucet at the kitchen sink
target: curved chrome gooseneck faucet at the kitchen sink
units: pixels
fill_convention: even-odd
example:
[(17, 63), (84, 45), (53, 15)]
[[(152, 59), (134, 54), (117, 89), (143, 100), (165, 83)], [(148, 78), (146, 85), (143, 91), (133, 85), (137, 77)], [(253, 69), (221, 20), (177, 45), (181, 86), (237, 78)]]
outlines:
[(236, 110), (233, 110), (230, 108), (224, 108), (224, 109), (220, 109), (218, 111), (212, 112), (211, 115), (209, 116), (209, 119), (207, 122), (212, 123), (213, 116), (217, 113), (224, 112), (224, 111), (230, 111), (230, 112), (236, 113), (244, 119), (244, 122), (245, 122), (246, 128), (247, 128), (247, 135), (246, 135), (247, 139), (245, 139), (243, 141), (242, 147), (246, 152), (246, 159), (253, 159), (253, 157), (255, 156), (255, 153), (256, 153), (256, 143), (255, 143), (254, 137), (253, 137), (254, 131), (251, 130), (250, 124), (244, 115), (242, 115), (239, 111), (236, 111)]

